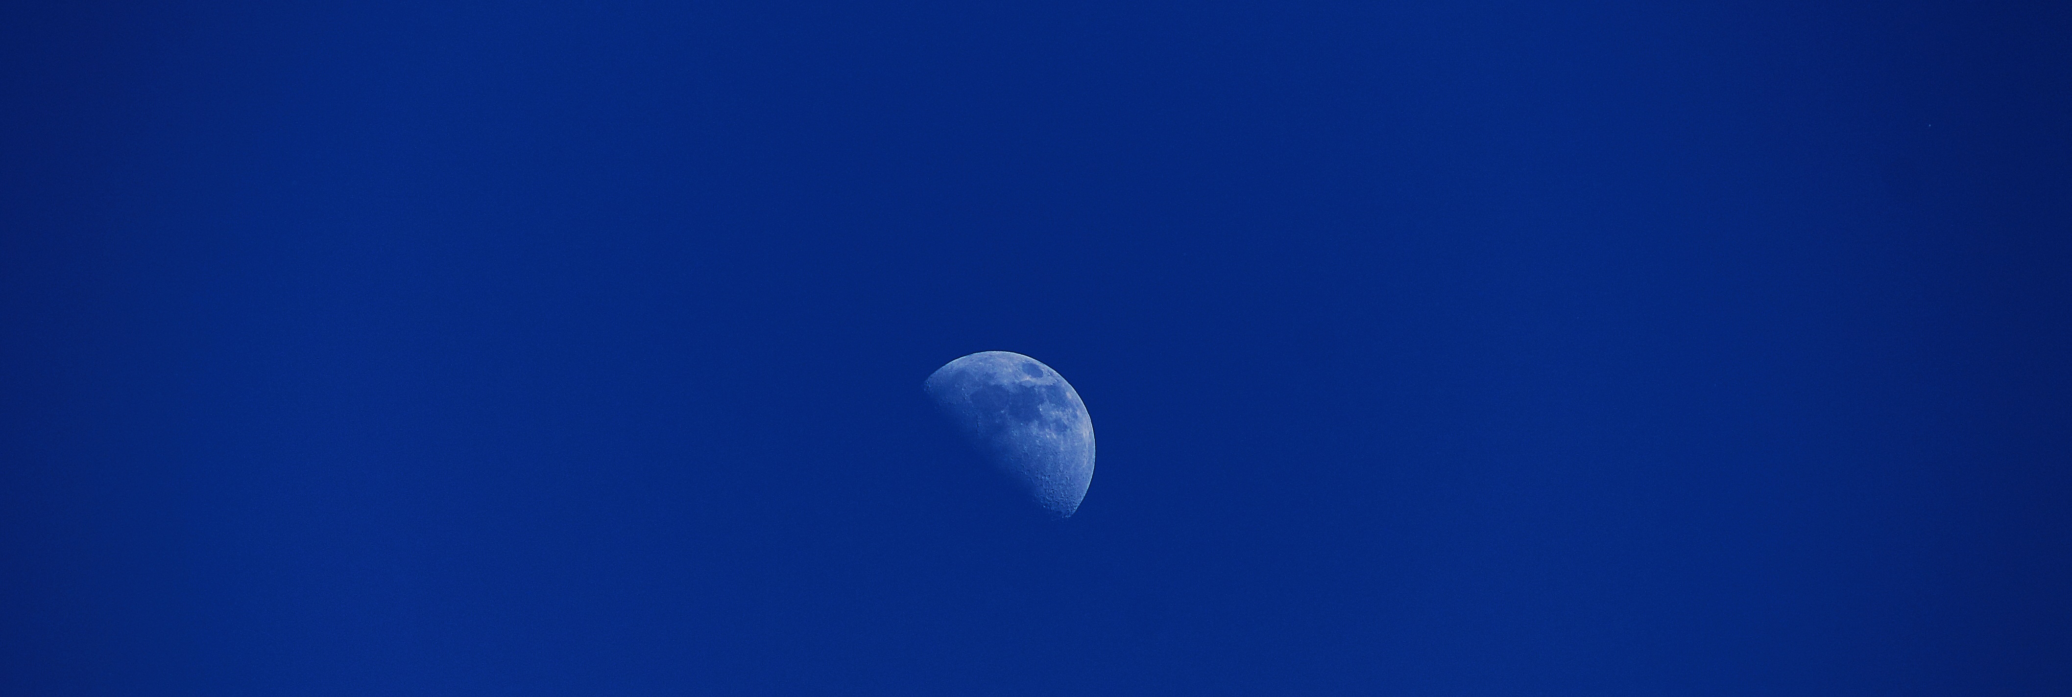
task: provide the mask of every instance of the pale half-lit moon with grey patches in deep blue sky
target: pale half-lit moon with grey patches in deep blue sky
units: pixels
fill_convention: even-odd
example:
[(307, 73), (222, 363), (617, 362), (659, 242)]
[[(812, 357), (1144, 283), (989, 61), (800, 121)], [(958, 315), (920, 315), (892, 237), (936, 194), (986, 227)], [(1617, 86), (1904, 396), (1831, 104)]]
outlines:
[(937, 368), (922, 391), (1038, 507), (1080, 511), (1094, 484), (1094, 420), (1063, 374), (1021, 354), (978, 352)]

